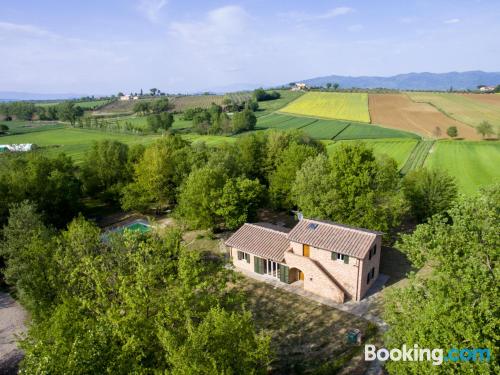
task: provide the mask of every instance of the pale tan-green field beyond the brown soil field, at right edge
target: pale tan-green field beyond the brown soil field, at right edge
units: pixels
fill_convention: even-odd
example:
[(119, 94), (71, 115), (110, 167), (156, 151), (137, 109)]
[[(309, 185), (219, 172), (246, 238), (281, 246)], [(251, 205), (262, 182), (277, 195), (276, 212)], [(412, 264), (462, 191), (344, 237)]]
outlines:
[(478, 126), (482, 121), (488, 121), (494, 126), (500, 126), (500, 106), (485, 103), (469, 95), (445, 93), (408, 93), (415, 102), (429, 103), (447, 116), (463, 123)]

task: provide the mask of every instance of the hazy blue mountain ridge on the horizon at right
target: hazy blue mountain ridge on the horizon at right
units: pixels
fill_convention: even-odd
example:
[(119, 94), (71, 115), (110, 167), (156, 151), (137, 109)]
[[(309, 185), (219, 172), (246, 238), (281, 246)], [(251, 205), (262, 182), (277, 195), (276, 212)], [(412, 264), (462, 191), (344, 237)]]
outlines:
[(311, 86), (325, 86), (327, 83), (338, 83), (340, 88), (375, 89), (386, 88), (395, 90), (439, 90), (445, 91), (453, 87), (455, 90), (477, 89), (479, 85), (500, 85), (500, 72), (482, 71), (450, 72), (450, 73), (408, 73), (392, 77), (349, 77), (331, 75), (306, 79)]

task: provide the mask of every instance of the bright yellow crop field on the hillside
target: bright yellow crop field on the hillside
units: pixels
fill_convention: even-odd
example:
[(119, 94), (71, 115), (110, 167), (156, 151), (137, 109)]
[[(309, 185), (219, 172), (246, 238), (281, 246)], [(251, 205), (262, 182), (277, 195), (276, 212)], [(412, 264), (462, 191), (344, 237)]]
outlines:
[(280, 112), (370, 122), (368, 95), (365, 93), (308, 92)]

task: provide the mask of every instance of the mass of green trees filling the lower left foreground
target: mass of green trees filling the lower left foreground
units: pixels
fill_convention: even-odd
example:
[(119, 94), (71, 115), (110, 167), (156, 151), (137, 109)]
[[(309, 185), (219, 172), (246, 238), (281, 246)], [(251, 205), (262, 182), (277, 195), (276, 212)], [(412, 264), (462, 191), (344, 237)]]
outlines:
[(11, 206), (0, 254), (29, 310), (22, 373), (264, 374), (258, 334), (219, 260), (181, 233), (108, 234), (82, 217), (45, 226), (35, 206)]

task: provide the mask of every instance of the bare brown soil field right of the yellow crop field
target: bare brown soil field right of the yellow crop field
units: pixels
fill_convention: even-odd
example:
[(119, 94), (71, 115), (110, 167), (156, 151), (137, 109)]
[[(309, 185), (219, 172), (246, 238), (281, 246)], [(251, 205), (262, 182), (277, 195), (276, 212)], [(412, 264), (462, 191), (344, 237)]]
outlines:
[[(368, 96), (372, 123), (418, 133), (429, 138), (449, 138), (446, 129), (456, 126), (458, 138), (481, 139), (475, 129), (456, 121), (433, 106), (416, 103), (405, 94), (370, 94)], [(441, 134), (436, 134), (439, 127)]]

